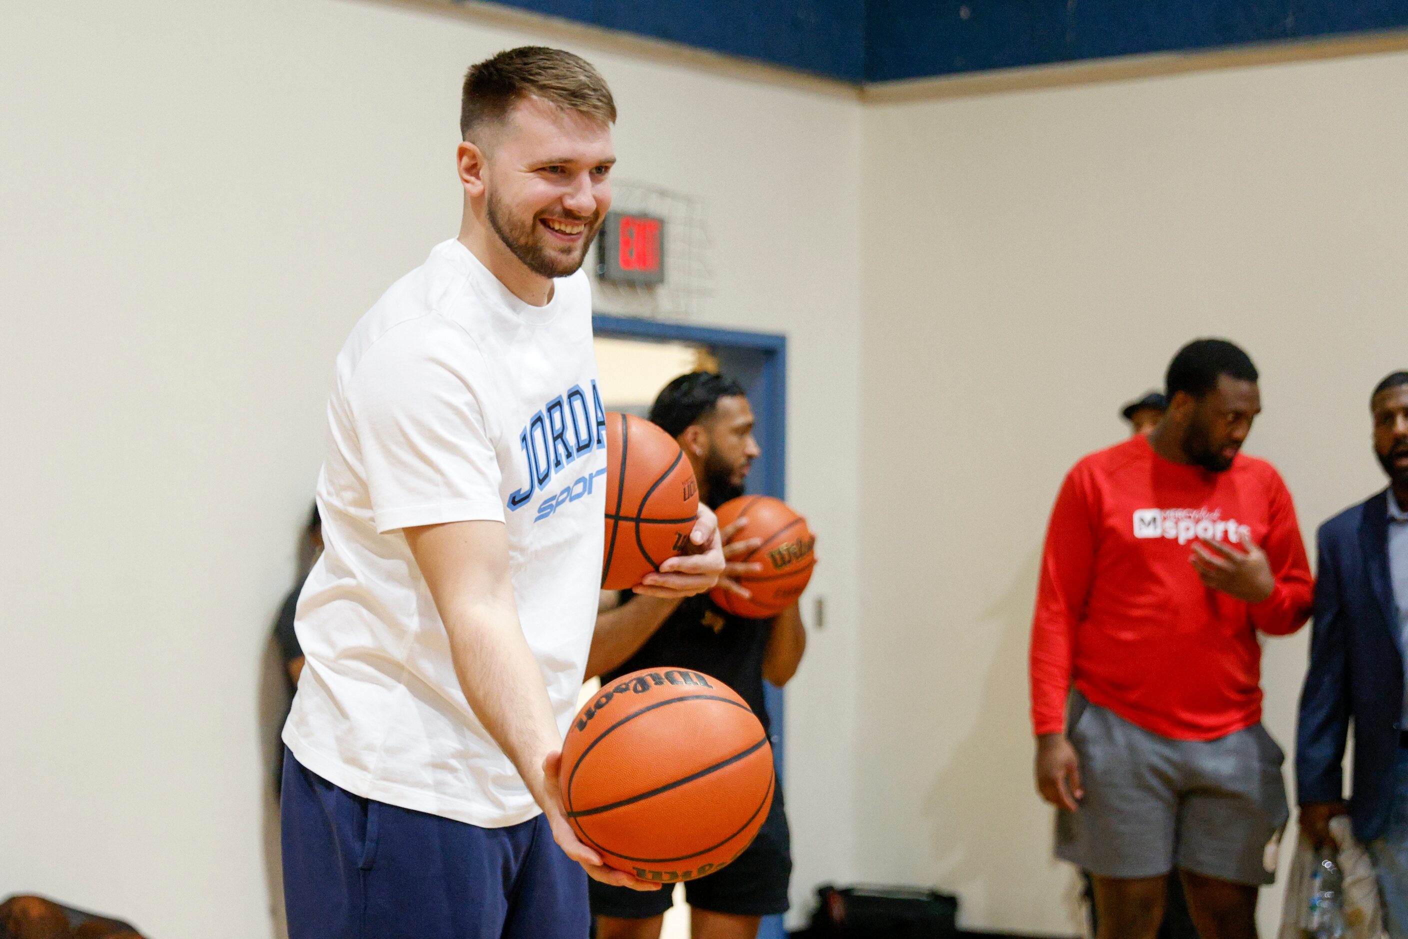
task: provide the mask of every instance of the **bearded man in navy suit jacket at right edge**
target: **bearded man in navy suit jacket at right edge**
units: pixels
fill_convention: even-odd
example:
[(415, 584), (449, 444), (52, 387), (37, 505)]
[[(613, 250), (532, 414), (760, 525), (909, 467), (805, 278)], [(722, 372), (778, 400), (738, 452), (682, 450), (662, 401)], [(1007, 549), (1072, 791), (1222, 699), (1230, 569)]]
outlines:
[[(1295, 784), (1301, 831), (1315, 847), (1332, 842), (1329, 821), (1349, 814), (1373, 857), (1388, 932), (1408, 936), (1408, 372), (1380, 382), (1369, 404), (1388, 489), (1319, 529)], [(1354, 777), (1346, 804), (1352, 722)]]

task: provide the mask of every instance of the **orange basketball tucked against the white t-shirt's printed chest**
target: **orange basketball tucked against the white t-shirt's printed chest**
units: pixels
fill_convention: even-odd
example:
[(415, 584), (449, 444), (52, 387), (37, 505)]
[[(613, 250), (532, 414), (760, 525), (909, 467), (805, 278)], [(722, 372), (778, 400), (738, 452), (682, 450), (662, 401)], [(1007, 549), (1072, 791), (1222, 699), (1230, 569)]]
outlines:
[(698, 483), (674, 438), (634, 414), (607, 411), (607, 542), (601, 586), (628, 590), (689, 545)]

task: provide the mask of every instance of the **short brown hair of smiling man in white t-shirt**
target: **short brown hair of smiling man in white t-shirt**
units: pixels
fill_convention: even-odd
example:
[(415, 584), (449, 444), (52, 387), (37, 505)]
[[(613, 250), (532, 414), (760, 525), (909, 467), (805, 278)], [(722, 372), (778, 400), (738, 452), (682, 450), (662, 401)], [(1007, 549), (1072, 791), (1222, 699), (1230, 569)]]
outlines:
[(611, 89), (580, 55), (541, 45), (507, 49), (470, 66), (459, 106), (463, 139), (489, 124), (503, 121), (518, 101), (539, 97), (569, 111), (615, 122)]

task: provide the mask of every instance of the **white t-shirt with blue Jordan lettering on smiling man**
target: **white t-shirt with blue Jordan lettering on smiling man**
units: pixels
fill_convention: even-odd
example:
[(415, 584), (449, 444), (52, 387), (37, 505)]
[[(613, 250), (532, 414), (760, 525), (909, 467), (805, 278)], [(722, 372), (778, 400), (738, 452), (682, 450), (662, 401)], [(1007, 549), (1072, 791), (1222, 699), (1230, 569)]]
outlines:
[(559, 731), (596, 624), (605, 417), (584, 273), (514, 297), (458, 241), (362, 317), (337, 360), (325, 549), (298, 598), (307, 664), (283, 741), (307, 769), (484, 828), (538, 807), (465, 700), (401, 528), (507, 525), (514, 598)]

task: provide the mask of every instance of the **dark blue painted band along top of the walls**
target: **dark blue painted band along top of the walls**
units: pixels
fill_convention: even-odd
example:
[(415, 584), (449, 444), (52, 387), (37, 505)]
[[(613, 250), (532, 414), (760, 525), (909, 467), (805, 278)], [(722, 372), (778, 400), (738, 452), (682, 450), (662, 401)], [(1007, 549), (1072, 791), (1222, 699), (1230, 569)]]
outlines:
[(498, 0), (845, 82), (1408, 28), (1408, 0)]

